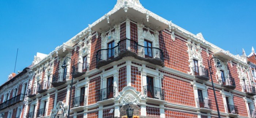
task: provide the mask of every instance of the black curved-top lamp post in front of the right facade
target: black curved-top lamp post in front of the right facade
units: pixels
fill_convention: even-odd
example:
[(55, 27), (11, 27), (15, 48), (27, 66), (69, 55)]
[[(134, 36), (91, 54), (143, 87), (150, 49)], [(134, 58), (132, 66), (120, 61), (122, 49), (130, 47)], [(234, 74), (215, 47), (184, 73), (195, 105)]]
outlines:
[[(216, 57), (212, 57), (211, 60), (212, 60), (213, 58), (216, 58)], [(217, 59), (217, 68), (221, 68), (221, 67), (222, 67), (221, 62), (219, 62), (219, 59), (218, 59), (218, 58), (216, 58), (216, 59)], [(218, 112), (218, 117), (221, 118), (221, 115), (219, 114), (219, 106), (218, 106), (217, 97), (216, 97), (216, 93), (215, 93), (215, 89), (214, 89), (214, 84), (213, 84), (212, 76), (211, 76), (211, 74), (212, 74), (212, 67), (211, 67), (211, 63), (210, 63), (211, 60), (209, 61), (209, 60), (207, 59), (207, 61), (208, 61), (208, 66), (209, 66), (209, 70), (210, 70), (210, 77), (211, 77), (212, 89), (213, 89), (214, 98), (215, 98), (215, 103), (216, 103), (217, 112)]]

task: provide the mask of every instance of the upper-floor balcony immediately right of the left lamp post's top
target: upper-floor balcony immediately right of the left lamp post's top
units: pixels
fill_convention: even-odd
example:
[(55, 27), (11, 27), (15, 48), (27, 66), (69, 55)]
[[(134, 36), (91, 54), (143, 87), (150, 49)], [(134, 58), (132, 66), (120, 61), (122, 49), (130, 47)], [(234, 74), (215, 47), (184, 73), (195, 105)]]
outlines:
[(87, 72), (88, 69), (89, 69), (89, 63), (78, 62), (78, 64), (75, 65), (74, 78), (82, 76), (83, 74), (85, 74)]

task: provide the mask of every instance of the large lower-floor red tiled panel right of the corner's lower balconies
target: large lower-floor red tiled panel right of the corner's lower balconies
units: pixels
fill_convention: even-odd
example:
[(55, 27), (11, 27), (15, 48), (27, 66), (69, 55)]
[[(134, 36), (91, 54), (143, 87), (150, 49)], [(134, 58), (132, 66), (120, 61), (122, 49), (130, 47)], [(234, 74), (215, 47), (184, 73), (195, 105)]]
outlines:
[(194, 90), (189, 82), (164, 76), (162, 79), (162, 88), (165, 89), (165, 101), (196, 106)]

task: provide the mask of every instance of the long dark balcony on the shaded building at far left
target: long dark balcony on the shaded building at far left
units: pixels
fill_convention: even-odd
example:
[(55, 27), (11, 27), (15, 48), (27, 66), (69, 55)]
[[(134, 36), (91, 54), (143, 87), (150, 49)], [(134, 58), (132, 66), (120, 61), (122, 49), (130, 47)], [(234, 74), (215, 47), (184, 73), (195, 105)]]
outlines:
[(3, 110), (6, 107), (9, 107), (9, 106), (12, 106), (16, 103), (24, 101), (25, 97), (26, 97), (26, 94), (19, 94), (19, 95), (13, 97), (13, 98), (1, 103), (0, 104), (0, 110)]

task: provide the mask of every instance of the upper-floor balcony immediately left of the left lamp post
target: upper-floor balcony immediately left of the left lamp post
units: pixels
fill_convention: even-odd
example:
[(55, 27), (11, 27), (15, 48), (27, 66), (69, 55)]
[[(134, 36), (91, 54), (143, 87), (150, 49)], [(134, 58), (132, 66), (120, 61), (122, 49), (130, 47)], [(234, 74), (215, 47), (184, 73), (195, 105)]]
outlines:
[(52, 86), (58, 87), (66, 83), (69, 80), (69, 73), (58, 73), (52, 77)]

